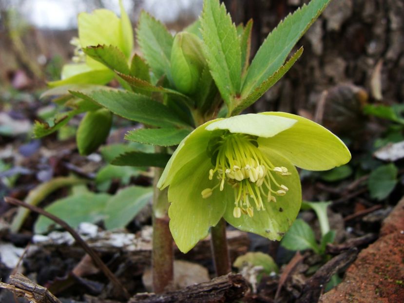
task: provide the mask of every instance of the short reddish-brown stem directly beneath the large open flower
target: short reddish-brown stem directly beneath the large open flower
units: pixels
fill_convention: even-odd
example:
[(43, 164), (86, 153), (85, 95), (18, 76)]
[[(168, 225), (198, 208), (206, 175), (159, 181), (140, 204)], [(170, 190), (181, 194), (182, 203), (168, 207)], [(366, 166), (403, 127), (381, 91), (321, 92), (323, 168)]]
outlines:
[(212, 255), (217, 276), (231, 272), (229, 249), (226, 238), (226, 221), (222, 218), (215, 227), (211, 228)]

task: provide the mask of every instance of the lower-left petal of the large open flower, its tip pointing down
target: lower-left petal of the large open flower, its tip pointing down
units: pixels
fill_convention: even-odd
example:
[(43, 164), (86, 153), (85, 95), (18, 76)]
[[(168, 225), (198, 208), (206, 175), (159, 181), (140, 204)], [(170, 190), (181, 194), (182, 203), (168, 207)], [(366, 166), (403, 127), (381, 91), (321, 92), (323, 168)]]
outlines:
[(219, 222), (226, 208), (225, 201), (233, 201), (229, 186), (223, 191), (215, 189), (209, 198), (202, 198), (203, 189), (219, 182), (209, 180), (211, 168), (210, 159), (199, 155), (176, 172), (168, 189), (170, 230), (175, 244), (184, 253), (208, 235), (209, 227)]

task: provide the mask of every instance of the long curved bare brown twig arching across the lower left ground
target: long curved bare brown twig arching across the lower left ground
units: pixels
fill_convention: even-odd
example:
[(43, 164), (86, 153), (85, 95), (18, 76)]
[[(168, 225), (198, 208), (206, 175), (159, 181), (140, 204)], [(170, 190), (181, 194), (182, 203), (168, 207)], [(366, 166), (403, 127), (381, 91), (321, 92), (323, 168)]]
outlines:
[(129, 295), (128, 291), (126, 290), (126, 288), (119, 282), (119, 280), (115, 277), (115, 275), (111, 272), (111, 270), (107, 267), (107, 265), (105, 265), (104, 262), (102, 262), (101, 258), (96, 254), (96, 252), (90, 246), (88, 246), (88, 244), (83, 239), (81, 239), (79, 234), (72, 227), (70, 227), (65, 221), (61, 220), (60, 218), (54, 216), (53, 214), (51, 214), (49, 212), (43, 210), (42, 208), (38, 208), (36, 206), (26, 204), (15, 198), (5, 197), (4, 201), (7, 203), (16, 205), (16, 206), (28, 208), (31, 211), (35, 211), (35, 212), (51, 219), (52, 221), (55, 221), (58, 225), (60, 225), (64, 229), (66, 229), (72, 235), (72, 237), (77, 241), (77, 243), (81, 247), (83, 247), (85, 252), (87, 252), (91, 256), (91, 259), (93, 259), (94, 264), (96, 264), (104, 272), (104, 274), (108, 277), (108, 279), (115, 285), (115, 287), (121, 291), (121, 293), (123, 294), (125, 299), (129, 299), (130, 295)]

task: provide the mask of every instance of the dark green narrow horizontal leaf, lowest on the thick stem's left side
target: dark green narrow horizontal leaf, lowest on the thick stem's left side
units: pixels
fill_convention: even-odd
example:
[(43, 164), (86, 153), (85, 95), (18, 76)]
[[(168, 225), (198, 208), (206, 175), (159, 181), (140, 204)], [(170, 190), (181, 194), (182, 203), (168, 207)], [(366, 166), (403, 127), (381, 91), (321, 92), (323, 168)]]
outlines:
[(111, 164), (118, 166), (166, 167), (171, 155), (167, 153), (126, 152), (116, 157)]

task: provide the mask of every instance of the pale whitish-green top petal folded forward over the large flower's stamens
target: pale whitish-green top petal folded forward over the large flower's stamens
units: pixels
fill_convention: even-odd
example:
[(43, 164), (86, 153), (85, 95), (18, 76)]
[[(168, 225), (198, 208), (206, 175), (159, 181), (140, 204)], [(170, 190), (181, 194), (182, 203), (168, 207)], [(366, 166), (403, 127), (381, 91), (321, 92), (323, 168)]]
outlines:
[(290, 129), (296, 122), (294, 119), (275, 115), (241, 114), (226, 119), (217, 119), (209, 124), (206, 130), (229, 130), (231, 133), (247, 133), (269, 138)]

